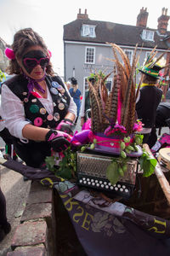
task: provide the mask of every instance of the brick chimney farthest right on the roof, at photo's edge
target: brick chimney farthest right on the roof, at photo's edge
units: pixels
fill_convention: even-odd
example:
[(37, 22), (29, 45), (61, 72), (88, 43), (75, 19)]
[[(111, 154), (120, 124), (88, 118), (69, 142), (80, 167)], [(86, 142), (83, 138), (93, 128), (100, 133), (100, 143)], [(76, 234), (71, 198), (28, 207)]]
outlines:
[(167, 9), (162, 8), (161, 9), (161, 16), (158, 18), (158, 25), (157, 30), (160, 32), (161, 35), (166, 35), (167, 33), (167, 26), (168, 26), (168, 20), (170, 16), (167, 16)]

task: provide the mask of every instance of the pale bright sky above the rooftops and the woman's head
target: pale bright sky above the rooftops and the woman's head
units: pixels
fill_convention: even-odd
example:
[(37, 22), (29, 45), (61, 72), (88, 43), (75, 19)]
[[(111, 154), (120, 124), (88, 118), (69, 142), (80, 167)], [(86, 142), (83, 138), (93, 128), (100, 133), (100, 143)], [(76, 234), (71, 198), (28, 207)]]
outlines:
[[(0, 0), (0, 37), (13, 43), (14, 33), (26, 27), (38, 32), (52, 52), (54, 71), (63, 76), (63, 26), (77, 19), (79, 9), (85, 9), (90, 20), (103, 20), (136, 26), (142, 7), (149, 12), (147, 26), (157, 28), (157, 19), (165, 7), (170, 15), (170, 1), (161, 0)], [(167, 30), (170, 31), (170, 20)]]

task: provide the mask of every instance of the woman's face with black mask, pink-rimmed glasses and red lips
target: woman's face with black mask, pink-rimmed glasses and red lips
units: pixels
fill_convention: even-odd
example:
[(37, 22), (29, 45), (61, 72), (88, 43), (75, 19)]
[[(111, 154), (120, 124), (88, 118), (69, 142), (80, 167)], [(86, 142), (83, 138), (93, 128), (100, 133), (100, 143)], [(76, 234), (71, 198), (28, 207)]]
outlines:
[(49, 63), (49, 56), (41, 46), (31, 46), (18, 62), (31, 79), (42, 79)]

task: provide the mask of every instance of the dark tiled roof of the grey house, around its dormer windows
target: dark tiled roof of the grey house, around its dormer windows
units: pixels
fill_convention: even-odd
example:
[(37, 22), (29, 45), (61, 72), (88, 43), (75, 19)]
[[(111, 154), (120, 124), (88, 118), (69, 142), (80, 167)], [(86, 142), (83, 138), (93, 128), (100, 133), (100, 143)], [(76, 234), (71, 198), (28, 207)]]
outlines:
[[(96, 38), (82, 37), (82, 24), (96, 26)], [(146, 48), (153, 48), (157, 45), (157, 49), (167, 49), (165, 41), (162, 40), (163, 37), (158, 35), (156, 29), (146, 29), (155, 32), (155, 42), (144, 41), (141, 38), (144, 28), (140, 26), (129, 26), (108, 21), (78, 19), (64, 26), (63, 39), (65, 41), (78, 41), (98, 44), (105, 44), (105, 42), (108, 42), (128, 46), (135, 46), (138, 43), (139, 47), (143, 44), (143, 47)], [(167, 37), (168, 36), (170, 36), (170, 32), (167, 32)]]

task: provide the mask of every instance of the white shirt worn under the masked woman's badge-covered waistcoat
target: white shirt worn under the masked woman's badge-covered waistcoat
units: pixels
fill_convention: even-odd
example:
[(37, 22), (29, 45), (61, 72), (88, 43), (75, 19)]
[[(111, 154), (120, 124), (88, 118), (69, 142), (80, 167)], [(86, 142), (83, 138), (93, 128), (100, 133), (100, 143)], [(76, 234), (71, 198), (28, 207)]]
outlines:
[[(67, 90), (66, 86), (65, 90)], [(6, 84), (3, 84), (2, 86), (1, 100), (2, 117), (5, 119), (5, 126), (7, 127), (8, 131), (14, 137), (25, 139), (25, 137), (22, 135), (22, 129), (25, 125), (30, 124), (30, 122), (26, 120), (24, 103), (20, 101), (18, 96), (15, 96), (15, 94), (8, 88)], [(48, 113), (54, 112), (54, 105), (49, 90), (47, 90), (47, 98), (39, 98), (39, 100), (44, 108), (46, 108)], [(75, 102), (73, 102), (72, 97), (68, 112), (74, 113), (75, 117), (77, 118), (77, 105)]]

